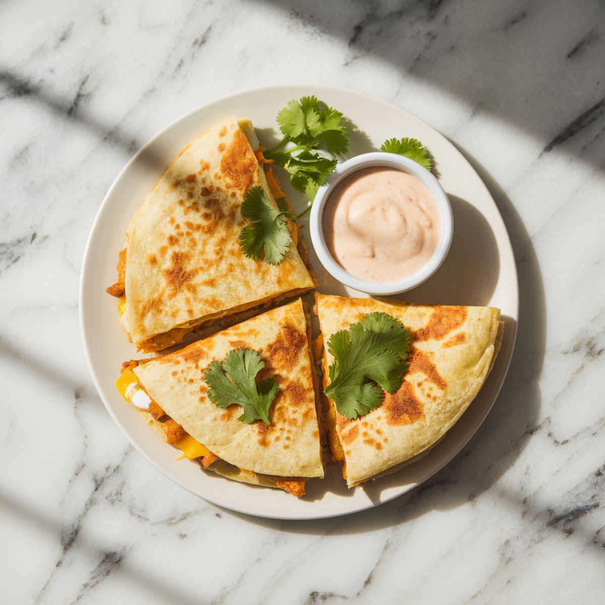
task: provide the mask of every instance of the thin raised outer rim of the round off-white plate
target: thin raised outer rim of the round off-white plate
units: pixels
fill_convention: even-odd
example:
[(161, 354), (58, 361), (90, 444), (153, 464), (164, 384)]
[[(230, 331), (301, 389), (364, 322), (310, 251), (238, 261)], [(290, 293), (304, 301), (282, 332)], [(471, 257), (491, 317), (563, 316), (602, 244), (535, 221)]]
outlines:
[[(491, 199), (492, 203), (494, 204), (495, 210), (497, 211), (497, 215), (499, 216), (500, 220), (502, 221), (502, 226), (506, 233), (506, 238), (508, 240), (508, 244), (509, 244), (509, 248), (510, 248), (510, 252), (511, 252), (511, 256), (512, 256), (512, 267), (514, 269), (514, 280), (515, 280), (515, 286), (516, 286), (516, 292), (517, 292), (517, 296), (515, 297), (515, 301), (514, 301), (515, 316), (511, 317), (512, 319), (514, 319), (514, 334), (512, 334), (511, 348), (510, 348), (510, 353), (509, 353), (508, 359), (505, 360), (506, 367), (502, 368), (502, 372), (503, 372), (502, 381), (500, 382), (500, 385), (498, 385), (498, 387), (495, 389), (494, 395), (492, 396), (491, 404), (489, 404), (489, 407), (486, 409), (485, 415), (480, 420), (479, 424), (477, 424), (477, 426), (474, 428), (473, 432), (471, 434), (469, 434), (468, 439), (463, 439), (457, 445), (457, 447), (454, 448), (451, 455), (448, 456), (447, 459), (439, 466), (439, 468), (436, 468), (433, 471), (431, 471), (430, 473), (428, 473), (426, 476), (424, 476), (424, 478), (420, 479), (415, 485), (404, 486), (401, 488), (401, 491), (396, 492), (395, 494), (386, 497), (384, 500), (381, 500), (380, 502), (369, 501), (369, 502), (367, 502), (367, 504), (365, 506), (359, 506), (358, 508), (355, 508), (352, 510), (347, 509), (345, 511), (329, 512), (329, 513), (324, 513), (324, 514), (321, 514), (321, 513), (310, 514), (310, 515), (309, 514), (304, 514), (304, 515), (298, 514), (295, 516), (292, 516), (291, 514), (290, 515), (289, 514), (276, 514), (274, 512), (272, 512), (271, 514), (263, 514), (261, 512), (250, 511), (250, 509), (242, 508), (241, 506), (234, 505), (231, 502), (224, 502), (224, 500), (214, 497), (214, 495), (210, 495), (210, 496), (205, 495), (205, 494), (200, 495), (200, 494), (196, 493), (195, 491), (193, 491), (193, 489), (191, 489), (188, 485), (185, 485), (185, 483), (183, 481), (181, 481), (178, 477), (174, 476), (173, 474), (165, 473), (164, 469), (160, 468), (159, 463), (157, 463), (154, 459), (152, 459), (151, 457), (148, 456), (146, 451), (143, 450), (142, 446), (140, 446), (139, 443), (137, 443), (134, 439), (132, 439), (131, 435), (129, 434), (128, 429), (125, 427), (123, 422), (116, 416), (116, 414), (114, 414), (111, 406), (108, 404), (108, 402), (105, 400), (105, 397), (103, 397), (103, 395), (102, 395), (102, 388), (100, 387), (100, 381), (99, 381), (99, 378), (97, 376), (97, 373), (93, 367), (93, 363), (91, 360), (91, 355), (90, 355), (91, 347), (90, 347), (90, 342), (89, 342), (90, 335), (87, 335), (87, 330), (85, 329), (85, 306), (86, 305), (85, 305), (85, 295), (84, 295), (84, 286), (85, 286), (85, 282), (87, 281), (87, 276), (88, 276), (87, 275), (87, 265), (89, 264), (90, 258), (93, 254), (93, 249), (92, 249), (93, 235), (96, 233), (97, 229), (99, 228), (99, 223), (102, 218), (103, 212), (106, 211), (106, 207), (108, 205), (108, 200), (111, 197), (111, 195), (113, 194), (114, 189), (116, 189), (117, 186), (119, 185), (120, 181), (122, 180), (123, 175), (131, 168), (132, 165), (134, 165), (134, 163), (137, 162), (140, 155), (144, 154), (145, 151), (149, 148), (149, 146), (151, 146), (157, 139), (162, 137), (167, 131), (174, 128), (175, 125), (177, 125), (178, 123), (182, 122), (183, 120), (188, 119), (190, 116), (192, 116), (195, 113), (203, 112), (204, 109), (208, 108), (208, 106), (214, 105), (215, 103), (224, 102), (226, 100), (233, 99), (234, 97), (238, 97), (238, 96), (243, 96), (248, 93), (268, 94), (268, 93), (275, 93), (276, 91), (279, 93), (283, 93), (284, 91), (287, 91), (292, 88), (309, 88), (310, 90), (322, 89), (322, 90), (326, 90), (326, 91), (328, 91), (328, 90), (334, 91), (335, 93), (339, 93), (339, 94), (355, 94), (356, 96), (364, 97), (365, 99), (371, 101), (372, 103), (376, 103), (376, 102), (382, 103), (383, 105), (386, 105), (391, 109), (395, 109), (399, 112), (405, 113), (409, 119), (414, 120), (417, 123), (419, 123), (420, 125), (431, 129), (431, 131), (433, 131), (433, 134), (435, 136), (442, 139), (446, 145), (449, 145), (453, 149), (453, 151), (455, 151), (456, 154), (459, 155), (460, 159), (463, 160), (463, 162), (466, 164), (467, 168), (470, 169), (471, 171), (473, 171), (474, 174), (476, 174), (477, 180), (479, 181), (480, 186), (483, 188), (484, 193), (486, 195), (488, 195), (488, 197)], [(103, 196), (103, 200), (101, 201), (101, 203), (99, 205), (99, 209), (97, 210), (93, 223), (90, 227), (90, 232), (88, 233), (87, 243), (86, 243), (86, 246), (84, 249), (84, 253), (83, 253), (83, 257), (82, 257), (82, 265), (80, 267), (79, 296), (78, 296), (80, 336), (82, 337), (82, 345), (83, 345), (83, 350), (84, 350), (84, 356), (85, 356), (85, 359), (86, 359), (87, 365), (88, 365), (88, 371), (90, 372), (90, 376), (93, 379), (93, 384), (94, 384), (94, 387), (96, 388), (97, 395), (103, 402), (103, 406), (110, 414), (110, 417), (113, 420), (113, 422), (117, 425), (117, 427), (119, 427), (120, 431), (122, 431), (123, 435), (126, 437), (128, 442), (130, 443), (130, 445), (132, 445), (135, 448), (135, 450), (137, 450), (140, 454), (142, 454), (142, 456), (145, 458), (145, 460), (147, 460), (147, 462), (151, 463), (151, 465), (157, 471), (162, 473), (163, 476), (165, 476), (167, 479), (171, 480), (172, 482), (176, 483), (181, 488), (186, 489), (186, 491), (190, 492), (191, 494), (194, 494), (195, 496), (200, 497), (203, 500), (206, 500), (206, 502), (210, 502), (215, 506), (220, 506), (221, 508), (224, 508), (224, 509), (227, 509), (230, 511), (238, 512), (240, 514), (250, 515), (253, 517), (275, 518), (275, 519), (281, 519), (281, 520), (297, 520), (297, 521), (298, 520), (304, 521), (304, 520), (313, 520), (313, 519), (320, 519), (320, 518), (340, 517), (343, 515), (350, 515), (350, 514), (355, 514), (357, 512), (366, 511), (370, 508), (375, 508), (376, 506), (385, 504), (387, 502), (391, 502), (391, 500), (394, 500), (394, 499), (412, 491), (413, 489), (419, 487), (424, 482), (426, 482), (428, 479), (430, 479), (434, 474), (438, 473), (446, 465), (448, 465), (460, 453), (460, 451), (466, 446), (466, 444), (473, 438), (473, 436), (477, 433), (479, 428), (482, 426), (483, 422), (485, 422), (486, 418), (489, 416), (489, 413), (491, 412), (492, 408), (494, 407), (495, 401), (499, 397), (500, 391), (502, 390), (502, 387), (508, 376), (508, 371), (509, 371), (510, 364), (512, 361), (512, 356), (514, 355), (515, 344), (516, 344), (516, 339), (517, 339), (517, 332), (518, 332), (519, 307), (520, 307), (520, 292), (519, 292), (519, 285), (518, 285), (518, 271), (517, 271), (517, 265), (515, 262), (514, 249), (512, 247), (512, 242), (511, 242), (510, 235), (508, 233), (508, 229), (506, 228), (506, 223), (502, 217), (502, 213), (500, 212), (499, 207), (495, 203), (493, 195), (489, 191), (489, 189), (486, 186), (483, 179), (480, 177), (479, 172), (474, 168), (474, 166), (468, 160), (466, 155), (463, 154), (463, 152), (460, 151), (460, 149), (453, 142), (451, 142), (450, 139), (448, 139), (445, 135), (443, 135), (442, 132), (440, 132), (433, 126), (431, 126), (430, 123), (425, 122), (425, 120), (422, 120), (415, 114), (411, 113), (410, 111), (406, 110), (405, 108), (401, 107), (400, 105), (397, 105), (397, 103), (382, 99), (382, 97), (378, 97), (376, 95), (366, 93), (365, 91), (356, 90), (355, 88), (319, 84), (319, 83), (315, 83), (315, 84), (309, 84), (309, 83), (270, 84), (270, 85), (263, 85), (263, 86), (258, 86), (258, 87), (244, 88), (242, 90), (234, 91), (232, 93), (210, 99), (210, 100), (206, 101), (205, 103), (202, 103), (201, 105), (198, 105), (195, 108), (192, 108), (191, 110), (186, 111), (185, 113), (176, 117), (174, 120), (171, 120), (171, 122), (169, 122), (168, 124), (163, 126), (163, 128), (160, 128), (159, 131), (155, 132), (155, 134), (153, 136), (151, 136), (148, 140), (146, 140), (146, 142), (143, 143), (143, 145), (136, 151), (136, 153), (132, 155), (132, 157), (128, 160), (128, 162), (126, 162), (126, 164), (116, 175), (116, 177), (114, 178), (110, 187), (107, 189), (105, 195)]]

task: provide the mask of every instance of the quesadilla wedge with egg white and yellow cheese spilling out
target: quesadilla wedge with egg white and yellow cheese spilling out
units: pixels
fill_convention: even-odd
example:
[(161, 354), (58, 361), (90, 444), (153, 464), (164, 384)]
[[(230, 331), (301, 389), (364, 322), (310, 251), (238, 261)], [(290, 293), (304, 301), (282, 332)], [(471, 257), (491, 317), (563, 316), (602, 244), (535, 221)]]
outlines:
[[(310, 352), (310, 311), (305, 307), (298, 299), (178, 352), (127, 362), (117, 388), (166, 442), (202, 468), (300, 496), (307, 479), (324, 476), (318, 379)], [(242, 420), (247, 411), (241, 393), (234, 390), (234, 384), (244, 390), (239, 370), (230, 368), (223, 376), (227, 397), (234, 397), (216, 402), (211, 372), (221, 362), (227, 367), (229, 355), (243, 357), (246, 350), (258, 354), (264, 364), (258, 376), (252, 376), (252, 386), (258, 392), (266, 392), (267, 384), (278, 388), (270, 401), (270, 424)]]

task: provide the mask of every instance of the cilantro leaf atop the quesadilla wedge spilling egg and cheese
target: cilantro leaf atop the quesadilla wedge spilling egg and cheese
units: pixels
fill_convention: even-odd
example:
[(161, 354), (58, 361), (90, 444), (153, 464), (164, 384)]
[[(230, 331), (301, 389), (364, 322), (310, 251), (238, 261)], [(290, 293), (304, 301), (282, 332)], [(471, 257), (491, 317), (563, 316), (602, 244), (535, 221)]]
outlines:
[(223, 410), (229, 405), (240, 405), (243, 414), (238, 420), (241, 422), (250, 424), (263, 420), (270, 425), (269, 409), (280, 388), (273, 378), (255, 382), (263, 368), (264, 361), (256, 351), (250, 348), (229, 351), (222, 364), (212, 362), (204, 374), (204, 381), (210, 387), (210, 401)]

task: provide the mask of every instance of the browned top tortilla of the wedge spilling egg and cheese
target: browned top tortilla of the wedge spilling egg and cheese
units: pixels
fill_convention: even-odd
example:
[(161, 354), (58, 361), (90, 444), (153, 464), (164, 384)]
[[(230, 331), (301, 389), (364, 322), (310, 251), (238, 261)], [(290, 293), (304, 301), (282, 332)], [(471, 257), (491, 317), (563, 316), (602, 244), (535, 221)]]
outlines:
[[(133, 371), (168, 416), (222, 462), (235, 467), (216, 462), (209, 469), (258, 485), (280, 478), (323, 477), (308, 324), (298, 299), (176, 353), (143, 362)], [(208, 398), (206, 368), (223, 361), (230, 350), (242, 348), (256, 350), (265, 362), (257, 379), (275, 376), (278, 381), (280, 391), (269, 413), (271, 425), (260, 420), (240, 422), (238, 405), (223, 410)]]

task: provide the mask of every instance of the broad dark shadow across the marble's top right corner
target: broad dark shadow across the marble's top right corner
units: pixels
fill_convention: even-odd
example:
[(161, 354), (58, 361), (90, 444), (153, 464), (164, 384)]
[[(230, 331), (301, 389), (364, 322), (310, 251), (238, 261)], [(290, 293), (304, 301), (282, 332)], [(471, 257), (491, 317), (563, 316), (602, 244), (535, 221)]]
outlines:
[[(378, 59), (399, 73), (393, 74), (395, 96), (405, 98), (408, 79), (427, 82), (464, 99), (472, 108), (469, 120), (492, 114), (534, 136), (541, 153), (563, 143), (578, 153), (592, 146), (583, 159), (605, 169), (594, 145), (605, 126), (598, 0), (584, 3), (589, 25), (577, 33), (579, 11), (564, 1), (377, 0), (348, 4), (347, 10), (318, 0), (257, 1), (286, 13), (291, 27), (346, 45), (344, 74), (350, 65)], [(600, 137), (600, 149), (604, 143)]]

